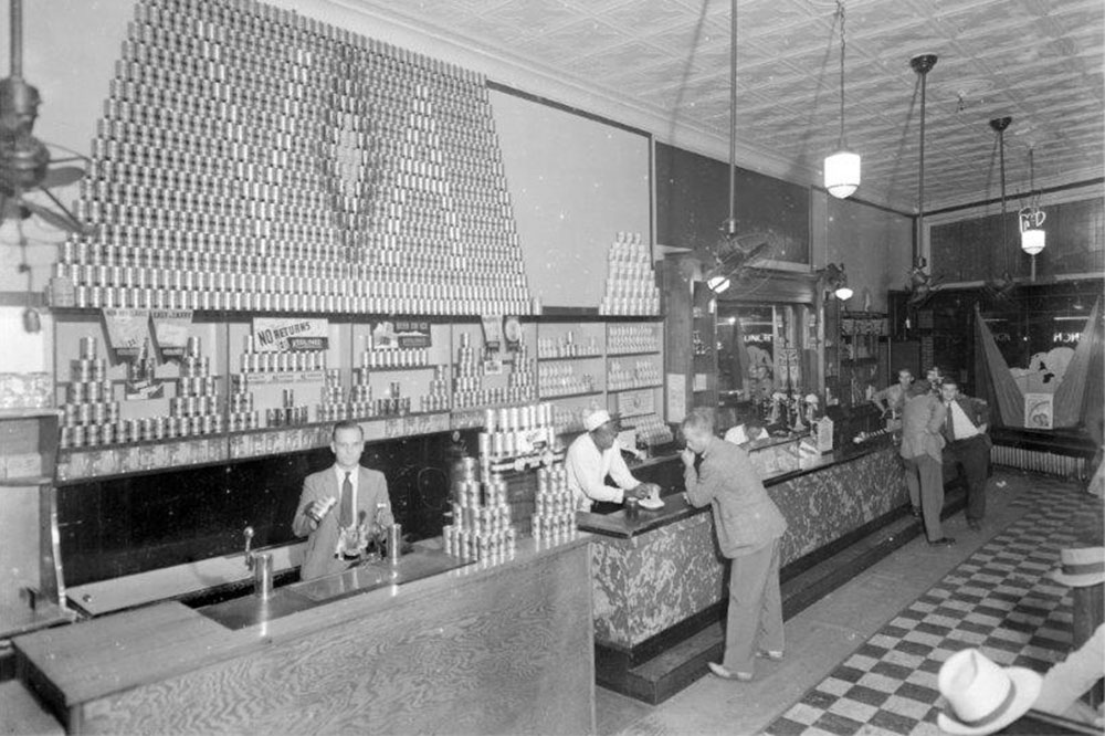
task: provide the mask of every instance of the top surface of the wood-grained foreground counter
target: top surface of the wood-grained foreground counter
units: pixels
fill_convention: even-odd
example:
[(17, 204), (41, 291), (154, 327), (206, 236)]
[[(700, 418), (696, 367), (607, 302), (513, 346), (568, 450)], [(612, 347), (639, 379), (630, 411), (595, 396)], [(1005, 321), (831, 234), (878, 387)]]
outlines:
[(171, 601), (18, 637), (13, 644), (57, 688), (66, 706), (72, 706), (248, 655), (282, 641), (309, 637), (320, 629), (383, 611), (398, 600), (410, 602), (518, 570), (589, 540), (587, 534), (556, 546), (520, 539), (515, 557), (497, 565), (474, 562), (408, 583), (327, 601), (236, 631)]

